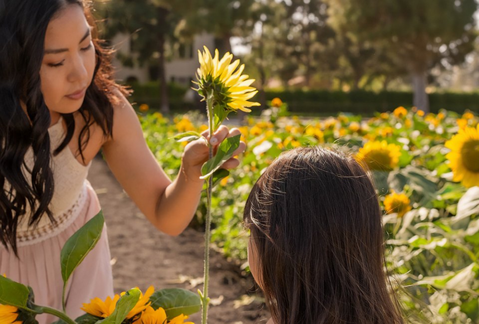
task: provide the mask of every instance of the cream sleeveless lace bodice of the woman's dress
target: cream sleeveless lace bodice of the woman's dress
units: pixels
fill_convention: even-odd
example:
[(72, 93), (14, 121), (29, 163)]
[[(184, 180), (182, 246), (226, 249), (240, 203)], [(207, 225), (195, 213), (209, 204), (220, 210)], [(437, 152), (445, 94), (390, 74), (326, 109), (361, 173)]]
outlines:
[[(70, 148), (67, 146), (58, 155), (53, 156), (53, 151), (61, 144), (65, 138), (66, 132), (62, 125), (62, 118), (48, 129), (50, 136), (51, 169), (53, 171), (54, 191), (50, 202), (50, 210), (56, 220), (55, 224), (49, 218), (43, 215), (38, 226), (28, 227), (29, 212), (27, 217), (22, 217), (17, 227), (17, 241), (31, 244), (34, 241), (43, 240), (51, 237), (55, 233), (66, 228), (76, 218), (87, 197), (86, 186), (89, 185), (86, 180), (88, 175), (87, 166), (78, 162)], [(31, 169), (33, 166), (33, 151), (28, 150), (25, 155), (25, 164)], [(30, 178), (30, 174), (26, 174)], [(21, 244), (19, 244), (21, 245)]]

